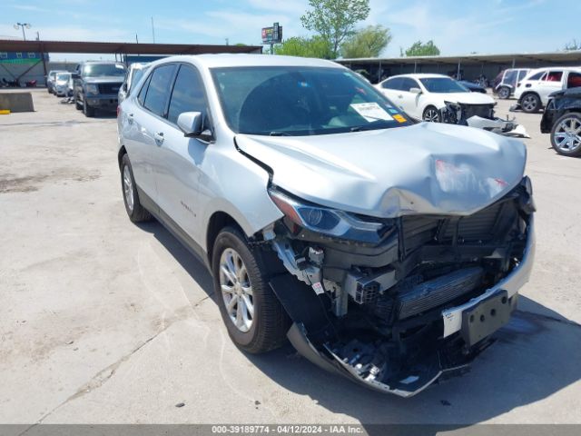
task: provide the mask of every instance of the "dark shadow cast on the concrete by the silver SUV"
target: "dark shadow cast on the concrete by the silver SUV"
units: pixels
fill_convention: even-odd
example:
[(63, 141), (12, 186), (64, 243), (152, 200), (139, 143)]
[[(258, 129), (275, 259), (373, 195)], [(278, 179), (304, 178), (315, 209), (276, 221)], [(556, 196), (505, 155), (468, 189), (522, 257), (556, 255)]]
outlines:
[[(202, 289), (212, 296), (212, 277), (160, 223), (140, 227), (164, 245)], [(214, 300), (215, 301), (215, 300)], [(216, 311), (216, 316), (220, 316)], [(422, 434), (450, 431), (541, 401), (581, 379), (581, 325), (525, 296), (511, 322), (496, 333), (467, 374), (442, 381), (403, 399), (370, 391), (325, 372), (290, 344), (246, 359), (285, 390), (308, 396), (319, 406), (359, 421), (369, 434), (385, 434), (379, 424), (429, 424)], [(530, 418), (530, 417), (529, 417)], [(310, 422), (308, 416), (305, 421)], [(529, 421), (523, 418), (521, 422)], [(405, 427), (391, 429), (405, 433)], [(399, 434), (399, 433), (398, 433)]]

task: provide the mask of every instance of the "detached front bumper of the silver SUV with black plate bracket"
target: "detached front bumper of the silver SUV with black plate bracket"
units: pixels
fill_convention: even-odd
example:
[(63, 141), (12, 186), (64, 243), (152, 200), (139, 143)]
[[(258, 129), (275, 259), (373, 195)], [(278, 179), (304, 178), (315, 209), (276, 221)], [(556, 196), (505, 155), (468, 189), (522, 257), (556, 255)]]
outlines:
[[(531, 214), (528, 217), (527, 243), (521, 262), (504, 279), (478, 297), (441, 311), (441, 330), (436, 332), (432, 342), (427, 343), (426, 352), (409, 362), (404, 371), (382, 381), (377, 380), (373, 371), (359, 371), (358, 356), (355, 353), (357, 350), (350, 354), (354, 357), (346, 358), (345, 348), (333, 343), (332, 326), (320, 322), (320, 313), (317, 313), (322, 307), (318, 301), (319, 295), (308, 286), (285, 292), (284, 288), (289, 288), (294, 280), (290, 276), (273, 279), (271, 287), (285, 308), (291, 308), (288, 312), (294, 324), (288, 332), (289, 340), (310, 362), (373, 390), (410, 397), (438, 379), (467, 372), (469, 364), (494, 342), (491, 339), (492, 333), (508, 322), (510, 314), (517, 307), (517, 292), (529, 279), (534, 254), (535, 234)], [(288, 304), (290, 299), (296, 299), (301, 304)], [(377, 345), (377, 349), (384, 346), (386, 344)], [(389, 365), (389, 362), (383, 364)]]

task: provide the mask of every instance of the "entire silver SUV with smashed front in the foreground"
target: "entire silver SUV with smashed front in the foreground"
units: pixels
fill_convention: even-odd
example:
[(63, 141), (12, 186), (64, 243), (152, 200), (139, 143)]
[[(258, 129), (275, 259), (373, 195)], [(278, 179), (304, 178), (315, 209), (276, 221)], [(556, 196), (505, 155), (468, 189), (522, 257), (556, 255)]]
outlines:
[(522, 142), (415, 123), (320, 59), (175, 56), (145, 74), (118, 110), (125, 210), (201, 257), (241, 350), (288, 337), (409, 396), (508, 322), (534, 251)]

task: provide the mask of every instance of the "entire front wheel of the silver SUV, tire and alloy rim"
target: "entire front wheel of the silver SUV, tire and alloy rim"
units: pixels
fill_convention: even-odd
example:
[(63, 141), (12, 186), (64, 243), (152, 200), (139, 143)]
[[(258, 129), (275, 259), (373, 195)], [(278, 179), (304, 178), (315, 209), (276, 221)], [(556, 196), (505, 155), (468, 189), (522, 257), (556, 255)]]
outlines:
[(271, 273), (260, 249), (251, 249), (239, 230), (226, 227), (212, 253), (214, 291), (232, 342), (251, 353), (280, 347), (291, 322), (269, 285)]

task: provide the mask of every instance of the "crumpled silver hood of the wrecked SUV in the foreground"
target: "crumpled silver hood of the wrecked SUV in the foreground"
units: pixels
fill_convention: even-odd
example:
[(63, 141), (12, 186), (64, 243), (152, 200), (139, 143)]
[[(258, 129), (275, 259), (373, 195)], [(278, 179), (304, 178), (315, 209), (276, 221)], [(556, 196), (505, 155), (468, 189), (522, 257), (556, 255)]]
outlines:
[(527, 160), (516, 139), (450, 124), (235, 139), (289, 193), (377, 217), (475, 213), (520, 182)]

